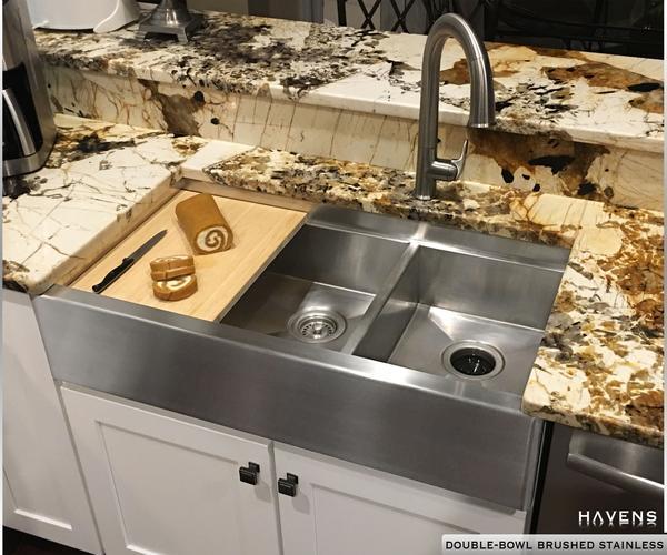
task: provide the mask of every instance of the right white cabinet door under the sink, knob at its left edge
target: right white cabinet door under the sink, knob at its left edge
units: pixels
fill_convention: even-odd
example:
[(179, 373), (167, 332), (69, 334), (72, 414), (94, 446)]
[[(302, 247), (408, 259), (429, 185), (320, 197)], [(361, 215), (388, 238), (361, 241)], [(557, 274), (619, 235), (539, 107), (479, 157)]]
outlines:
[(285, 555), (440, 555), (442, 534), (520, 533), (526, 514), (296, 447), (276, 445)]

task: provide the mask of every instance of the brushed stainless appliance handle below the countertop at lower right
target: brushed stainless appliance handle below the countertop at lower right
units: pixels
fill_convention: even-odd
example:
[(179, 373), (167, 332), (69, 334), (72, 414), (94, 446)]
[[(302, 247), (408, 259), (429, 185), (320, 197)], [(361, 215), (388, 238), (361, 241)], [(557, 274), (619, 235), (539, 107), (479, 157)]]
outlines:
[(627, 492), (665, 497), (664, 457), (658, 448), (577, 430), (570, 438), (567, 465)]

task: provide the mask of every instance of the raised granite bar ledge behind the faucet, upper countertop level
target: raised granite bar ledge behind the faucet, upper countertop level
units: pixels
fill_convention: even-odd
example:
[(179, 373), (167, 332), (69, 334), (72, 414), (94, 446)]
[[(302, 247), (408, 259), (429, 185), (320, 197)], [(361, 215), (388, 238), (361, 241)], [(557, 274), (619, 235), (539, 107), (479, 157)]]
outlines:
[[(51, 65), (229, 93), (417, 119), (426, 38), (307, 22), (206, 13), (188, 44), (112, 33), (37, 32)], [(663, 152), (663, 61), (487, 44), (498, 129)], [(440, 120), (469, 105), (462, 50), (442, 54)], [(196, 99), (195, 99), (196, 101)], [(619, 117), (623, 114), (623, 117)]]

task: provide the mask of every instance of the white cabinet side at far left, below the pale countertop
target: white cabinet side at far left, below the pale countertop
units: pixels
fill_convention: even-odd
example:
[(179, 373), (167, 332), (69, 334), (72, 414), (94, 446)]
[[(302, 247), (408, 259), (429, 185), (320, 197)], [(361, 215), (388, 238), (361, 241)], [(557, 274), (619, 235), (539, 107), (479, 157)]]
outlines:
[(32, 303), (2, 295), (3, 524), (101, 553)]

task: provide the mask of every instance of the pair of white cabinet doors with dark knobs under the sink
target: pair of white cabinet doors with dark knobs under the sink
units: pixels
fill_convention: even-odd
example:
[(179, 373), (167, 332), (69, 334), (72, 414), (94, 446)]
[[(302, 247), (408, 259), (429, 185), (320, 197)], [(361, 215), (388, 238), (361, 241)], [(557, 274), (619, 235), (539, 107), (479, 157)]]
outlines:
[[(61, 391), (108, 555), (440, 555), (442, 534), (524, 531), (520, 511), (74, 386)], [(257, 485), (239, 480), (249, 463), (260, 467)]]

